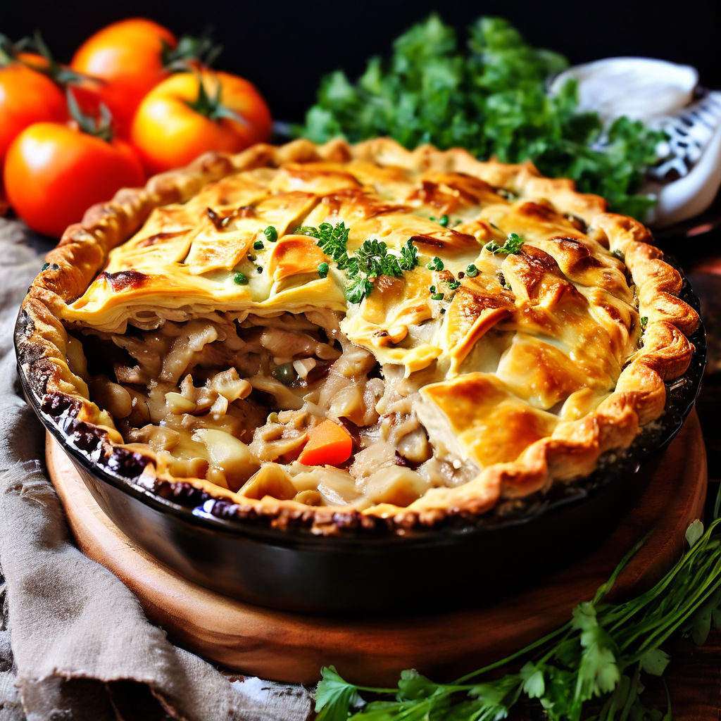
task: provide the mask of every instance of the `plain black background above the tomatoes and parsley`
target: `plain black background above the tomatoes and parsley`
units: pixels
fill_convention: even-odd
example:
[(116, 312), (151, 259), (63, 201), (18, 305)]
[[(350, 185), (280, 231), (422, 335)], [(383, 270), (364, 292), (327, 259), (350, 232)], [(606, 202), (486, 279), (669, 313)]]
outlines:
[(37, 28), (58, 60), (69, 61), (85, 37), (125, 17), (150, 17), (177, 35), (198, 35), (210, 25), (224, 45), (216, 67), (254, 82), (275, 118), (301, 120), (325, 73), (345, 68), (355, 77), (366, 58), (387, 53), (394, 37), (434, 9), (459, 29), (482, 14), (501, 15), (531, 43), (572, 63), (619, 55), (665, 58), (696, 66), (704, 85), (721, 88), (720, 0), (0, 0), (0, 32), (17, 40)]

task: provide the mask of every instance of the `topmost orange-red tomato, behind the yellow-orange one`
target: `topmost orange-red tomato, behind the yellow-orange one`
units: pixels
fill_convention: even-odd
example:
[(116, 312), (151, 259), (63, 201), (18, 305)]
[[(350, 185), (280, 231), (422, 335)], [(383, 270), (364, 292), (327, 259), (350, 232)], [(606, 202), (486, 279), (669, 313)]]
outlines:
[(98, 103), (104, 102), (112, 112), (115, 130), (127, 137), (138, 103), (169, 75), (163, 66), (163, 41), (171, 48), (177, 45), (177, 38), (167, 28), (143, 18), (115, 22), (89, 37), (70, 67), (105, 83), (97, 89), (74, 89), (81, 107), (95, 112)]

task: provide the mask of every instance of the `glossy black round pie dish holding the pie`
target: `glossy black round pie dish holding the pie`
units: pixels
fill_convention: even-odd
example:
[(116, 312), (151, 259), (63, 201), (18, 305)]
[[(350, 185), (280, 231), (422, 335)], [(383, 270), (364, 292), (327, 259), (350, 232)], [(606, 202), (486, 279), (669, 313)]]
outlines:
[[(680, 296), (699, 309), (689, 283)], [(16, 348), (24, 325), (21, 312)], [(286, 611), (406, 616), (482, 605), (577, 559), (605, 538), (645, 489), (694, 405), (706, 362), (701, 324), (690, 340), (695, 350), (689, 370), (668, 384), (663, 415), (628, 451), (602, 458), (596, 472), (573, 485), (557, 485), (551, 495), (536, 494), (481, 518), (455, 517), (402, 535), (382, 523), (358, 526), (350, 515), (347, 533), (336, 536), (311, 534), (302, 522), (264, 527), (257, 518), (248, 523), (238, 506), (214, 500), (187, 482), (143, 487), (138, 482), (143, 456), (115, 454), (111, 462), (98, 464), (93, 427), (74, 419), (60, 394), (38, 397), (20, 365), (19, 376), (37, 417), (107, 516), (186, 578)]]

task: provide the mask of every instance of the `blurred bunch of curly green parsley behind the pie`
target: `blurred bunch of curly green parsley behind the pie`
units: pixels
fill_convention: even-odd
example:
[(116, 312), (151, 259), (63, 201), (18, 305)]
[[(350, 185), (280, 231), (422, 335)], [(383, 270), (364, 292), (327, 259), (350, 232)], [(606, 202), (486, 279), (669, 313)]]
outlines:
[(629, 118), (604, 128), (596, 113), (578, 112), (575, 81), (549, 95), (549, 76), (566, 67), (503, 19), (474, 22), (464, 47), (431, 15), (394, 41), (390, 58), (371, 58), (357, 81), (342, 71), (326, 76), (296, 132), (316, 142), (390, 136), (407, 148), (433, 143), (502, 162), (531, 159), (642, 218), (653, 200), (635, 193), (663, 133)]

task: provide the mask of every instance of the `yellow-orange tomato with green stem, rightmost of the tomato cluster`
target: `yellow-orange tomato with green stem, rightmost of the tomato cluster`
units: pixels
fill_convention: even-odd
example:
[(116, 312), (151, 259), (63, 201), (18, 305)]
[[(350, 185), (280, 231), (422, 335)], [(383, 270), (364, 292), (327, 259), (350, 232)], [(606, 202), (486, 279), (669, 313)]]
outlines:
[(160, 172), (205, 151), (237, 152), (265, 141), (272, 123), (265, 100), (247, 80), (209, 70), (180, 73), (143, 98), (131, 142), (146, 168)]

